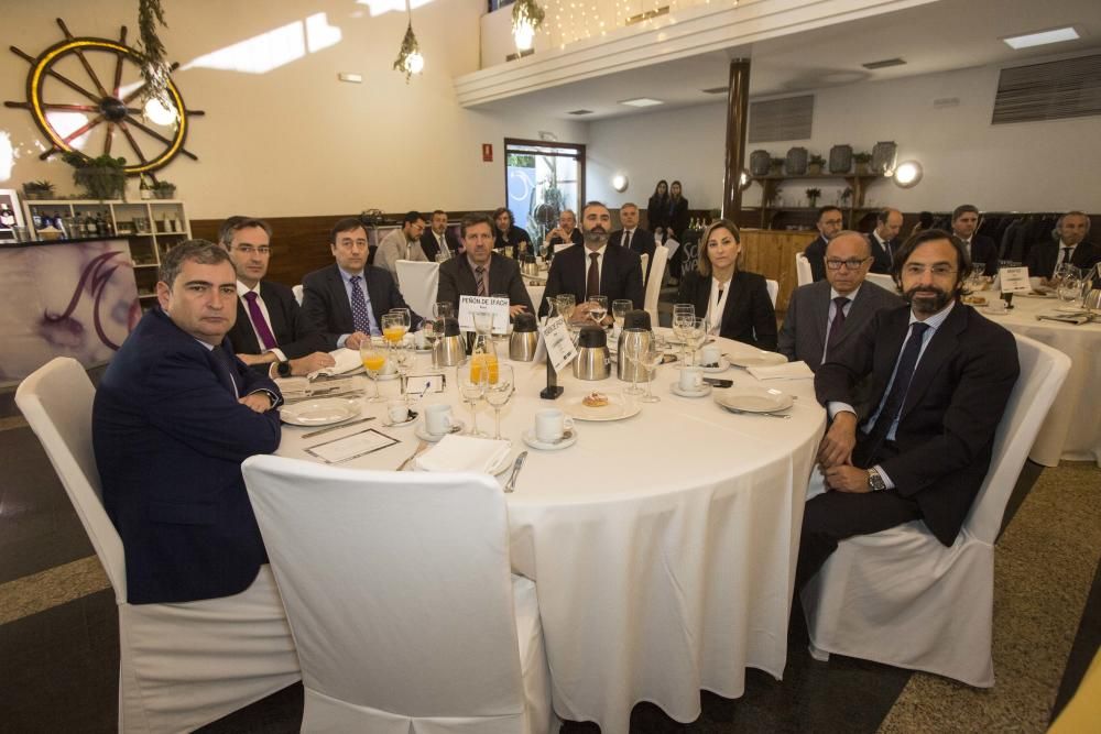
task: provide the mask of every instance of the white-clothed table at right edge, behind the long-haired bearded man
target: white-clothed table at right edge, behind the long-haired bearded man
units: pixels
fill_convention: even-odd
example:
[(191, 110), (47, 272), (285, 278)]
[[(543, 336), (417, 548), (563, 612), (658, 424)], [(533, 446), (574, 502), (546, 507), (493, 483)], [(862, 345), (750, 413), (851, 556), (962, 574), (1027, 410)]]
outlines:
[[(981, 294), (985, 295), (985, 294)], [(1014, 333), (1031, 337), (1070, 358), (1070, 373), (1040, 426), (1028, 458), (1045, 467), (1059, 459), (1093, 461), (1101, 467), (1101, 324), (1073, 325), (1039, 321), (1037, 314), (1059, 305), (1057, 298), (1016, 294), (1005, 314), (977, 310)]]

